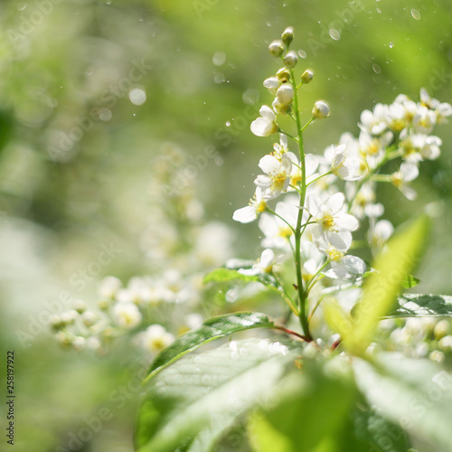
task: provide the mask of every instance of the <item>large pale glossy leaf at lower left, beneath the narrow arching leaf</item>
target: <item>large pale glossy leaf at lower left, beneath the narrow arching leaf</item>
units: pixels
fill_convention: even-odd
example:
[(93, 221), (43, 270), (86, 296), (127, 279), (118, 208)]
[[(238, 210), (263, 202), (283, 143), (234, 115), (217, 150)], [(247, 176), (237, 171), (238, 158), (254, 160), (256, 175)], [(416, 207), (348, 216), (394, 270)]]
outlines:
[(138, 452), (207, 452), (231, 425), (278, 387), (301, 348), (268, 339), (191, 353), (155, 375), (137, 419)]

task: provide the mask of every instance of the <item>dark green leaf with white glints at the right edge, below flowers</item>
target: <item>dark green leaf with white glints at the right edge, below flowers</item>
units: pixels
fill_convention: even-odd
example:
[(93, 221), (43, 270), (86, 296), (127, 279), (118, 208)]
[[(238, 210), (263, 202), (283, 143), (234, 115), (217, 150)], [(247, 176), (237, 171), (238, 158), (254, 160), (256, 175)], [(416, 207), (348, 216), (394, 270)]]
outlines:
[(447, 295), (405, 294), (399, 297), (399, 304), (385, 318), (452, 317), (452, 297)]

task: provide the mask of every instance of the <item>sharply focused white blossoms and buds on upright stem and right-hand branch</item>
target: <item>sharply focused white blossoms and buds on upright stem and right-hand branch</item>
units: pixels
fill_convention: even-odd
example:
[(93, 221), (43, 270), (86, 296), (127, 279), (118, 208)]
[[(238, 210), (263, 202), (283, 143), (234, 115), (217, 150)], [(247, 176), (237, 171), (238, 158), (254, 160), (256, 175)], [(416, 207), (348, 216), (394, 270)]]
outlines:
[[(322, 287), (323, 277), (362, 281), (366, 265), (363, 259), (349, 254), (352, 232), (365, 221), (369, 225), (367, 244), (375, 252), (394, 231), (390, 221), (379, 220), (384, 207), (376, 202), (376, 184), (391, 183), (413, 199), (416, 193), (410, 182), (419, 175), (419, 163), (440, 154), (441, 140), (431, 135), (433, 128), (447, 121), (452, 108), (430, 99), (425, 89), (421, 89), (419, 102), (400, 95), (391, 105), (378, 104), (372, 111), (363, 111), (358, 138), (345, 133), (338, 144), (325, 149), (324, 155), (305, 154), (303, 131), (315, 119), (326, 118), (329, 108), (323, 100), (315, 102), (312, 117), (301, 126), (297, 90), (313, 79), (313, 73), (306, 70), (297, 84), (293, 70), (297, 53), (288, 51), (293, 30), (286, 32), (282, 40), (269, 45), (269, 52), (285, 64), (263, 83), (275, 98), (271, 108), (260, 108), (259, 118), (250, 126), (258, 137), (278, 133), (279, 143), (260, 158), (262, 174), (254, 181), (256, 191), (249, 205), (233, 213), (233, 219), (248, 223), (259, 218), (264, 234), (262, 256), (252, 268), (241, 268), (240, 273), (274, 274), (275, 264), (294, 256), (296, 265), (302, 268), (308, 294), (317, 283), (317, 288)], [(287, 35), (291, 39), (285, 41)], [(283, 115), (294, 120), (295, 133), (283, 130)], [(289, 150), (289, 138), (295, 142), (298, 155)], [(380, 174), (384, 165), (396, 158), (401, 161), (399, 169)], [(270, 208), (269, 203), (282, 195), (285, 198)]]

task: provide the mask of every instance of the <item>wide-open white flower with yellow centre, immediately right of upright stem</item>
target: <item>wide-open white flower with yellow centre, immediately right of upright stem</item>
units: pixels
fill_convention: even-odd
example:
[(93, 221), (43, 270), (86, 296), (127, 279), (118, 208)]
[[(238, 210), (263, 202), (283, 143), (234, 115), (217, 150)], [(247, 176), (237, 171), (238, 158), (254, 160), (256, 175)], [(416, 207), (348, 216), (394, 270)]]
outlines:
[(313, 230), (315, 237), (325, 235), (326, 240), (336, 248), (343, 248), (351, 242), (351, 231), (358, 228), (356, 218), (344, 212), (344, 193), (335, 193), (325, 202), (321, 202), (317, 193), (310, 193), (306, 197), (307, 211), (317, 223)]

